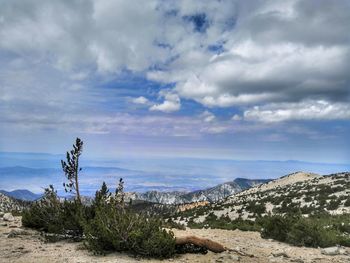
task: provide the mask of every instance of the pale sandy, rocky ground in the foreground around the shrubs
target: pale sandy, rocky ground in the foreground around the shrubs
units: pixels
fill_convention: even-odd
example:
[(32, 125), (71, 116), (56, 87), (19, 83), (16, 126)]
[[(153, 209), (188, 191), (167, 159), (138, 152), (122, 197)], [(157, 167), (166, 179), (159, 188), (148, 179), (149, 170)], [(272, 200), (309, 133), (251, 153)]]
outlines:
[[(206, 255), (184, 254), (167, 260), (135, 258), (131, 255), (113, 253), (95, 256), (85, 250), (82, 243), (61, 241), (46, 243), (39, 232), (21, 228), (19, 217), (14, 221), (0, 219), (0, 262), (40, 263), (40, 262), (350, 262), (350, 249), (332, 248), (329, 251), (315, 248), (293, 247), (276, 241), (264, 240), (256, 232), (217, 229), (175, 230), (176, 236), (196, 235), (210, 238), (228, 248), (241, 251)], [(337, 255), (324, 255), (337, 254)], [(252, 255), (250, 257), (248, 255)]]

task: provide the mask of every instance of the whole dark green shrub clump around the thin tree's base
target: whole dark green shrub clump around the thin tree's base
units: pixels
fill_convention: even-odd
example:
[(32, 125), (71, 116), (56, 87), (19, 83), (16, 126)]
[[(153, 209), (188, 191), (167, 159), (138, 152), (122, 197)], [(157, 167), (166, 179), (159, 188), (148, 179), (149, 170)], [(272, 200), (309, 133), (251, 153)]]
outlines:
[(79, 201), (60, 202), (53, 187), (22, 217), (26, 227), (69, 237), (84, 237), (87, 249), (105, 254), (125, 251), (145, 257), (166, 258), (175, 253), (172, 232), (162, 221), (124, 207), (123, 193), (111, 196), (103, 183), (88, 207)]

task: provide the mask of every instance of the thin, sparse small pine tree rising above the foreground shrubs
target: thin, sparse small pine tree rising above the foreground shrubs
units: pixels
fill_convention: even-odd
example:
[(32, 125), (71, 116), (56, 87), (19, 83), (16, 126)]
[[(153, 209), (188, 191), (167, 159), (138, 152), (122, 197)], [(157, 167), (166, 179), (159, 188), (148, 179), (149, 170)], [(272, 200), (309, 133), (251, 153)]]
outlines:
[(75, 193), (77, 201), (81, 203), (80, 192), (79, 192), (79, 178), (78, 173), (82, 170), (79, 168), (79, 156), (83, 151), (83, 141), (79, 138), (76, 139), (73, 144), (73, 150), (67, 152), (67, 161), (61, 160), (63, 172), (68, 179), (68, 183), (63, 183), (63, 187), (66, 192)]

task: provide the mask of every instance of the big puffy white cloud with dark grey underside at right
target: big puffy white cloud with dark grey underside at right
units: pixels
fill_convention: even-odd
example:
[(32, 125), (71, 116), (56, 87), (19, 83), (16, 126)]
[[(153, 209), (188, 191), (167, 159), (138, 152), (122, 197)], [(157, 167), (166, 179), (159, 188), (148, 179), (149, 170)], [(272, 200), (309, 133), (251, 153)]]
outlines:
[(179, 82), (176, 91), (209, 107), (344, 100), (348, 55), (348, 47), (243, 42), (216, 56), (199, 75)]

